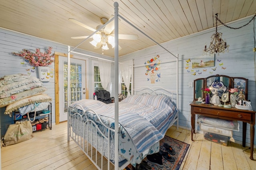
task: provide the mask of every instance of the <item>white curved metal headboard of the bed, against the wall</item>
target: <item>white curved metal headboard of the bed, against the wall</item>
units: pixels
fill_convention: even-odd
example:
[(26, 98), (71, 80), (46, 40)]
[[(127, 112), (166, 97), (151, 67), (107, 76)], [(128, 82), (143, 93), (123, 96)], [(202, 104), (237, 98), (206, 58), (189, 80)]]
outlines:
[(177, 91), (164, 89), (163, 87), (160, 87), (160, 86), (154, 86), (154, 87), (142, 86), (138, 89), (134, 89), (134, 94), (137, 94), (137, 95), (143, 95), (143, 94), (163, 95), (163, 96), (171, 97), (172, 99), (174, 95), (176, 95), (176, 92)]

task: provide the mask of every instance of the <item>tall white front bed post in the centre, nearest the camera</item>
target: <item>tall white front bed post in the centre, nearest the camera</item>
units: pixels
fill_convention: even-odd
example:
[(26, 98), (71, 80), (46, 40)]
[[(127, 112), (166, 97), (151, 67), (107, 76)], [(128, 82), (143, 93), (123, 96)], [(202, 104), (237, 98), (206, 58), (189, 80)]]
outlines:
[[(114, 10), (115, 10), (115, 170), (119, 169), (118, 166), (118, 3), (114, 2)], [(109, 162), (108, 162), (109, 164)]]

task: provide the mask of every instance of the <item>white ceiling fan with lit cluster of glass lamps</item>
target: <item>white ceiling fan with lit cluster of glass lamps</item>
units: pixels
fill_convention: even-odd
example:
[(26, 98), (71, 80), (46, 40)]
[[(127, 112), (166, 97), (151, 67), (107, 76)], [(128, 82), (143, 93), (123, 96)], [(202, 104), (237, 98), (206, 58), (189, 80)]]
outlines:
[[(109, 20), (111, 20), (114, 16), (112, 15), (110, 17)], [(74, 18), (68, 18), (68, 20), (70, 20), (71, 22), (78, 24), (79, 26), (82, 26), (88, 30), (91, 30), (93, 32), (95, 32), (96, 30), (94, 28), (91, 28), (90, 26), (87, 26), (85, 24), (83, 24), (82, 22), (79, 22), (78, 20), (74, 19)], [(108, 22), (107, 18), (100, 18), (100, 22), (102, 23), (102, 25), (106, 24), (106, 22)], [(98, 28), (100, 28), (99, 25), (97, 26), (97, 30)], [(97, 32), (96, 34), (94, 34), (92, 36), (93, 40), (90, 42), (92, 45), (94, 45), (95, 49), (99, 49), (100, 47), (102, 48), (102, 50), (107, 50), (108, 48), (108, 44), (110, 44), (112, 46), (112, 48), (115, 47), (115, 40), (114, 40), (114, 34), (113, 34), (113, 30), (114, 30), (114, 21), (110, 22), (108, 25), (106, 25), (105, 27), (103, 27), (101, 30), (99, 30), (99, 32)], [(80, 36), (80, 37), (71, 37), (72, 39), (84, 39), (84, 38), (88, 38), (88, 36)], [(138, 36), (137, 35), (130, 35), (130, 34), (118, 34), (118, 39), (122, 39), (122, 40), (137, 40)], [(118, 46), (118, 50), (120, 50), (121, 47)]]

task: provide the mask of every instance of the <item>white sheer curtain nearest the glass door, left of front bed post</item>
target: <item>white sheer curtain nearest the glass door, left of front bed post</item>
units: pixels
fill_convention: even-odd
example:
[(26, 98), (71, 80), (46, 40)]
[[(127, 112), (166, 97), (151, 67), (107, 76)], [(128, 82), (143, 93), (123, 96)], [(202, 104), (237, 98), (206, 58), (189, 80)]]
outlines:
[(104, 90), (110, 91), (111, 62), (98, 59), (100, 70), (100, 82)]

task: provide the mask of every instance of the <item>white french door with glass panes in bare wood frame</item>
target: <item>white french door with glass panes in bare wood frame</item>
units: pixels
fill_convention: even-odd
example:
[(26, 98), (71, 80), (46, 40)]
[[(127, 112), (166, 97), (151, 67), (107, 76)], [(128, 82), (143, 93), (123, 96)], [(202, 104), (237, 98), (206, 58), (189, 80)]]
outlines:
[[(70, 58), (70, 104), (86, 98), (86, 61)], [(59, 122), (68, 113), (68, 58), (59, 56)]]

